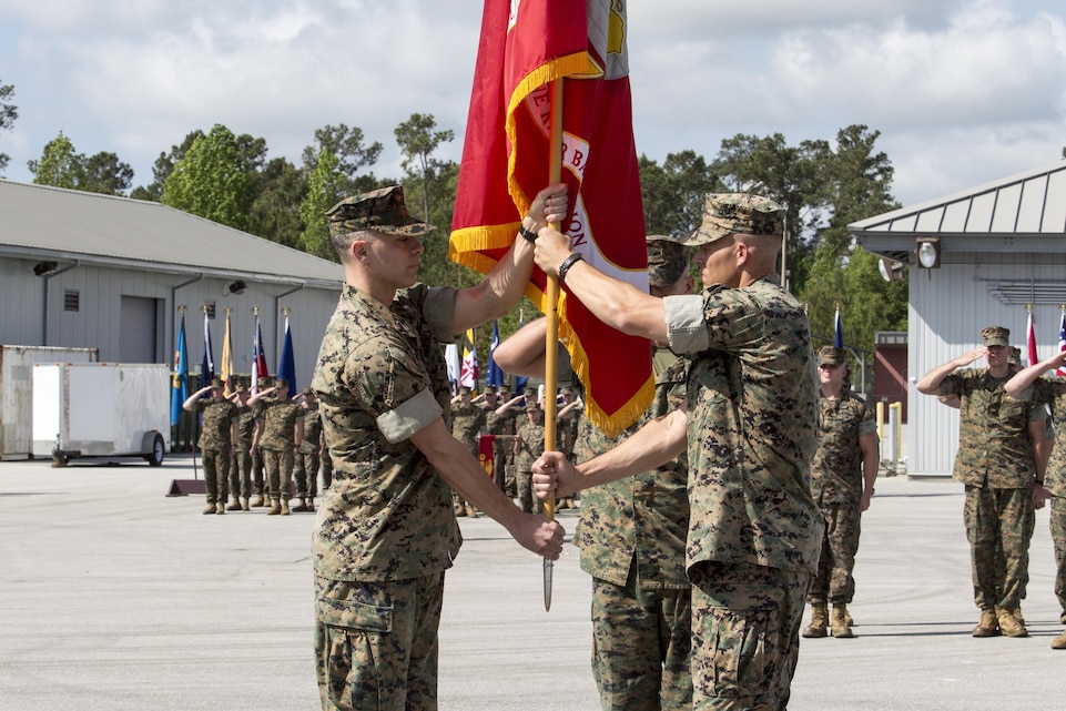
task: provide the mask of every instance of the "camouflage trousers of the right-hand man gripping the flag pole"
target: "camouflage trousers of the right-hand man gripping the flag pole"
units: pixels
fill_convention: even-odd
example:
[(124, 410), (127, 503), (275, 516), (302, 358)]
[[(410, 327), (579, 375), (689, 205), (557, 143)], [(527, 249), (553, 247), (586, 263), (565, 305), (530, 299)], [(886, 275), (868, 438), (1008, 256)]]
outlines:
[(779, 711), (789, 705), (811, 575), (704, 562), (692, 582), (692, 709)]

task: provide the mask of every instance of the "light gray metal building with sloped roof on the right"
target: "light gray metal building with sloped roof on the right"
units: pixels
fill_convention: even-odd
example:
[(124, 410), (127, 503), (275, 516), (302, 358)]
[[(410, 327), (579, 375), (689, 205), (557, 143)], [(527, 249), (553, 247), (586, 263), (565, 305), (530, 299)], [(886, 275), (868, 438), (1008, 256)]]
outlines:
[[(950, 476), (958, 413), (922, 395), (928, 370), (1011, 329), (1028, 365), (1032, 309), (1039, 359), (1058, 349), (1066, 313), (1066, 161), (849, 225), (867, 252), (910, 270), (907, 473)], [(974, 364), (984, 367), (984, 359)]]

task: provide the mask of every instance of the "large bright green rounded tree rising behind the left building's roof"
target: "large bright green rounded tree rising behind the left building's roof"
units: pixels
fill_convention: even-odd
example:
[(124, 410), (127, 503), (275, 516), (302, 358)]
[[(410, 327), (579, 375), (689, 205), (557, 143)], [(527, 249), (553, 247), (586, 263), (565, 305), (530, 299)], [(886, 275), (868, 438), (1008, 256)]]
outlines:
[[(247, 136), (250, 138), (250, 136)], [(250, 170), (265, 153), (257, 140), (238, 139), (222, 124), (197, 138), (163, 184), (162, 202), (207, 220), (247, 231), (255, 200)]]

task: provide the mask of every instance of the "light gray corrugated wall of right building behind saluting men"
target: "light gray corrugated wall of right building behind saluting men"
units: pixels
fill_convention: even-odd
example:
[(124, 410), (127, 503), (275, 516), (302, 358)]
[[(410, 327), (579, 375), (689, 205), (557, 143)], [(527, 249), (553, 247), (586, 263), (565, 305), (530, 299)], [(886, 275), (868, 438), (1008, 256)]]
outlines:
[[(908, 312), (907, 474), (951, 476), (958, 446), (958, 410), (922, 395), (914, 384), (934, 367), (981, 346), (981, 329), (1004, 326), (1011, 342), (1022, 348), (1026, 365), (1024, 304), (1005, 304), (992, 290), (1004, 281), (1066, 281), (1059, 255), (1045, 255), (1044, 264), (1025, 264), (1033, 255), (982, 255), (997, 264), (945, 264), (938, 270), (911, 268)], [(974, 262), (978, 260), (974, 258)], [(1037, 303), (1033, 312), (1037, 355), (1058, 349), (1062, 312), (1058, 304)], [(984, 358), (973, 366), (985, 367)]]

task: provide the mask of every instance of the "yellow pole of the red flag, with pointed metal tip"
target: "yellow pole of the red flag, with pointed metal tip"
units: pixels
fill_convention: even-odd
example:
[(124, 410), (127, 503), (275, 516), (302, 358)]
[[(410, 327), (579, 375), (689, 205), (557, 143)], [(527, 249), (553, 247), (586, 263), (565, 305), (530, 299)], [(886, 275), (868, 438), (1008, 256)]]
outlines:
[[(556, 79), (550, 84), (551, 126), (549, 135), (548, 183), (555, 184), (562, 180), (562, 80)], [(550, 223), (552, 230), (559, 230), (558, 222)], [(556, 390), (559, 385), (559, 277), (548, 275), (547, 294), (548, 333), (545, 341), (545, 451), (556, 450)], [(555, 520), (556, 500), (548, 497), (544, 500), (545, 518)], [(545, 558), (545, 611), (551, 610), (551, 561)]]

